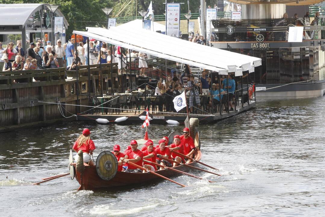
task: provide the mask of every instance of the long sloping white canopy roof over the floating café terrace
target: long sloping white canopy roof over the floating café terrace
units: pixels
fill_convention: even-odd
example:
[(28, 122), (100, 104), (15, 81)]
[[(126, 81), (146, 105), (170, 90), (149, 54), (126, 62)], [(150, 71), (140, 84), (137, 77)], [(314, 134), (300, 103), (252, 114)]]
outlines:
[(261, 65), (260, 58), (203, 46), (144, 29), (118, 27), (110, 27), (109, 30), (97, 27), (87, 27), (87, 29), (88, 32), (73, 31), (73, 33), (160, 58), (216, 71), (222, 75), (227, 75), (228, 72), (235, 72), (237, 76), (242, 75), (242, 71), (250, 70), (252, 65), (254, 67)]

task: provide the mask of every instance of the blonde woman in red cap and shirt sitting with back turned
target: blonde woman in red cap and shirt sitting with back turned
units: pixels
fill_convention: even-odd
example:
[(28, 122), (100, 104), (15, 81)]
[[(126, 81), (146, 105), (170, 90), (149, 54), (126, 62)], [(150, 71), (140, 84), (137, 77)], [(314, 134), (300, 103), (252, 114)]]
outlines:
[[(90, 130), (84, 129), (82, 134), (78, 137), (77, 141), (74, 142), (72, 149), (78, 153), (82, 151), (84, 153), (84, 163), (94, 166), (94, 162), (90, 159), (90, 155), (93, 155), (93, 151), (96, 149), (94, 142), (90, 139)], [(78, 155), (75, 155), (75, 161), (78, 160)]]

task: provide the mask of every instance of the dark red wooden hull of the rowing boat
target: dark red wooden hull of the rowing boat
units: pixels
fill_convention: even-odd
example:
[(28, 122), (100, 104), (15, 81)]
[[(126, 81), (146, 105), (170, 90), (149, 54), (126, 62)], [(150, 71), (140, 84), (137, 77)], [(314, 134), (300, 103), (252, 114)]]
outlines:
[[(201, 152), (199, 151), (196, 155), (196, 160), (201, 159)], [(189, 165), (196, 165), (196, 162), (191, 162)], [(75, 167), (75, 165), (74, 165)], [(186, 166), (176, 166), (174, 167), (176, 170), (188, 171), (189, 167)], [(121, 187), (134, 187), (135, 185), (144, 185), (144, 184), (152, 184), (163, 181), (163, 178), (160, 178), (154, 174), (149, 172), (146, 173), (128, 173), (128, 172), (117, 172), (113, 179), (105, 181), (101, 179), (97, 172), (95, 166), (87, 166), (83, 174), (75, 170), (75, 178), (80, 184), (80, 190), (96, 190), (96, 189), (109, 189), (114, 190)], [(172, 170), (159, 170), (155, 171), (156, 173), (165, 176), (165, 177), (175, 177), (182, 175), (178, 172), (174, 172)]]

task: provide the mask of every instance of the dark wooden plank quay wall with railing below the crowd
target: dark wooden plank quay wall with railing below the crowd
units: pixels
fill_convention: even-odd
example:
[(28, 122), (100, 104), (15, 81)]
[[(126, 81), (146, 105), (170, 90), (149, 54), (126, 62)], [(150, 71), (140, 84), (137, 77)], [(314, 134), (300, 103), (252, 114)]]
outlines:
[[(165, 60), (157, 58), (156, 61), (165, 64)], [(167, 61), (167, 65), (175, 66), (175, 62)], [(110, 94), (111, 89), (124, 92), (127, 87), (135, 87), (138, 68), (132, 67), (132, 64), (131, 68), (128, 68), (129, 80), (125, 73), (117, 73), (117, 63), (91, 65), (89, 70), (85, 65), (76, 71), (58, 68), (0, 72), (0, 132), (45, 126), (66, 119), (61, 115), (58, 104), (46, 102), (60, 102), (65, 116), (88, 110), (89, 107), (73, 105), (92, 105), (89, 100), (92, 95)], [(65, 75), (71, 79), (65, 79)]]

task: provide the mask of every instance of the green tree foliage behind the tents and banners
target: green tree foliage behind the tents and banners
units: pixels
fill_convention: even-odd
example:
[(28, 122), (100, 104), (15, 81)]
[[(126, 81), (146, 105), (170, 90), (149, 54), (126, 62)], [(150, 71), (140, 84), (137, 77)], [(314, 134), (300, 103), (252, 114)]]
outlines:
[[(171, 0), (167, 2), (173, 2)], [(181, 13), (188, 12), (187, 0), (175, 1), (181, 4)], [(12, 4), (10, 0), (0, 0), (2, 4)], [(85, 31), (87, 26), (105, 27), (106, 15), (100, 8), (113, 8), (110, 17), (139, 16), (136, 11), (147, 10), (150, 0), (16, 0), (14, 3), (47, 3), (60, 5), (59, 9), (69, 23), (66, 30), (67, 38), (70, 38), (73, 30)], [(136, 4), (137, 3), (137, 4)], [(153, 0), (152, 7), (155, 15), (165, 12), (165, 0)], [(189, 9), (192, 13), (198, 12), (200, 1), (190, 0)]]

